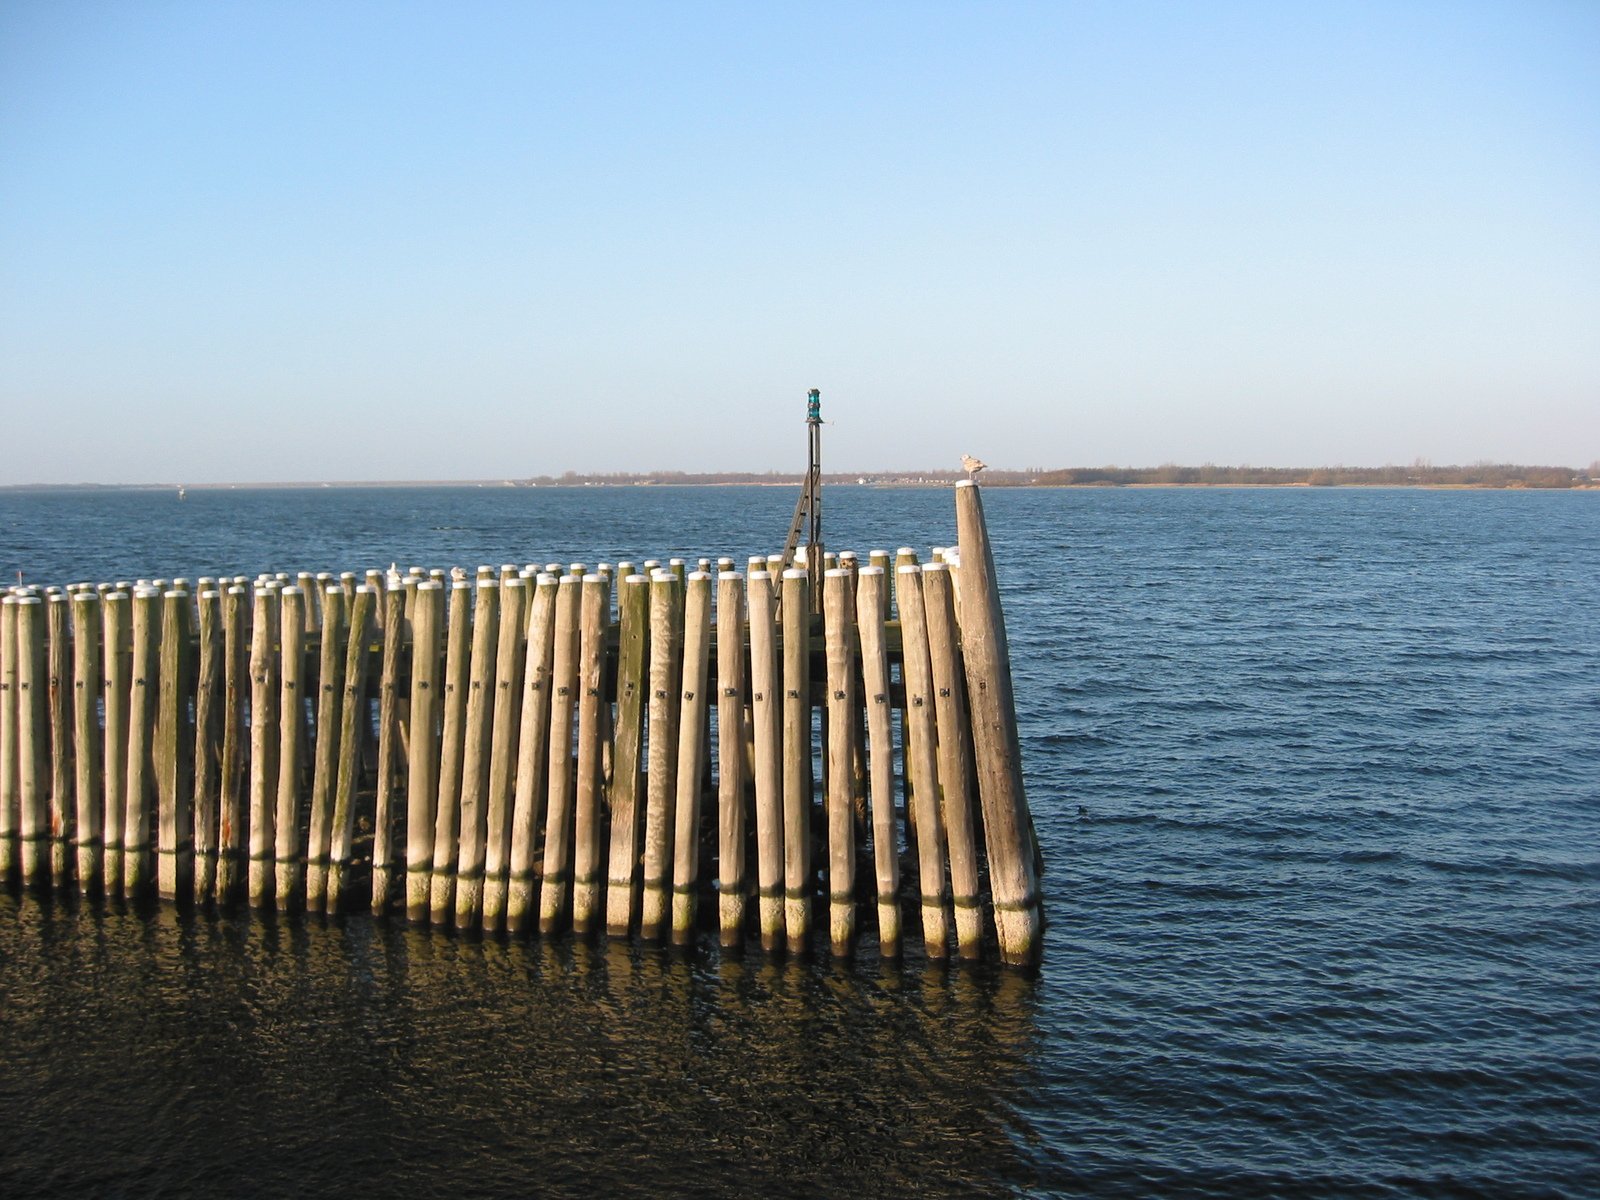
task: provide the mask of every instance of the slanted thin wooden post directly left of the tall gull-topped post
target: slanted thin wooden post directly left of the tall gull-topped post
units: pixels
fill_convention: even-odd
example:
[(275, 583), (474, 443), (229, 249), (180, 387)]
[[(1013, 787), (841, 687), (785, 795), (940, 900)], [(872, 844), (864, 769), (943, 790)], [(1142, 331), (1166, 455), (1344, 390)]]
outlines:
[(950, 568), (922, 568), (922, 595), (928, 618), (928, 658), (933, 666), (934, 718), (939, 723), (939, 794), (944, 837), (950, 850), (950, 902), (955, 907), (955, 952), (962, 958), (982, 955), (982, 909), (978, 899), (978, 840), (973, 832), (971, 731), (960, 664), (957, 661), (955, 594)]

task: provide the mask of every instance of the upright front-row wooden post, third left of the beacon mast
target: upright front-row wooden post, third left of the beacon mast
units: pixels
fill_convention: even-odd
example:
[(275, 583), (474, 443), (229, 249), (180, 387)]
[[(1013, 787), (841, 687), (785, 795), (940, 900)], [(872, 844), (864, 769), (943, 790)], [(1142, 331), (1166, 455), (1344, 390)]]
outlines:
[(717, 907), (728, 947), (744, 938), (746, 909), (744, 624), (744, 578), (725, 570), (717, 576)]

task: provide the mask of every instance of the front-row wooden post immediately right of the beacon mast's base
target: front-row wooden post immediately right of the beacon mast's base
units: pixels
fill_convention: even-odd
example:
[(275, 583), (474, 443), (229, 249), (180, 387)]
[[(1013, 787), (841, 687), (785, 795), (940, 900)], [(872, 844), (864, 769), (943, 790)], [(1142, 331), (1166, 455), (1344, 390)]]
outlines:
[(827, 642), (827, 931), (835, 955), (856, 936), (856, 824), (851, 765), (856, 755), (856, 654), (851, 571), (822, 576)]

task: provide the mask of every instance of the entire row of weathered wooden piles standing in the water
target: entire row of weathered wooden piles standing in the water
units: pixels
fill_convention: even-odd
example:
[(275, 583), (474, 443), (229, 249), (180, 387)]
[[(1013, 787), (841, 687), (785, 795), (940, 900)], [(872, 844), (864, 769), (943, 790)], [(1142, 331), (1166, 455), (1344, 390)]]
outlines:
[(928, 563), (816, 574), (11, 589), (0, 874), (485, 933), (683, 942), (704, 920), (768, 950), (826, 912), (840, 955), (862, 912), (898, 955), (904, 906), (931, 958), (1032, 963), (1038, 850), (976, 486), (957, 530)]

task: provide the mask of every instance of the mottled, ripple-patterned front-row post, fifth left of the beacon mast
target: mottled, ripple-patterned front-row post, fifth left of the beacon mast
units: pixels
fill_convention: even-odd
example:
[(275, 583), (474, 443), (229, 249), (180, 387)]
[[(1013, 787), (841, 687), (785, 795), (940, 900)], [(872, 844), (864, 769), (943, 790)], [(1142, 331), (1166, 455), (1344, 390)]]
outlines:
[(646, 939), (661, 938), (669, 915), (682, 645), (677, 576), (656, 571), (650, 581), (650, 770), (645, 778), (645, 898), (638, 915), (638, 933)]

